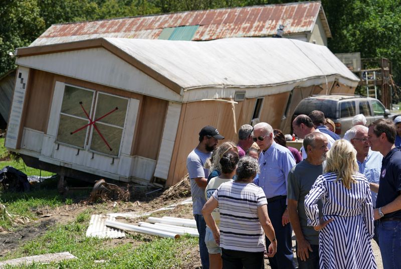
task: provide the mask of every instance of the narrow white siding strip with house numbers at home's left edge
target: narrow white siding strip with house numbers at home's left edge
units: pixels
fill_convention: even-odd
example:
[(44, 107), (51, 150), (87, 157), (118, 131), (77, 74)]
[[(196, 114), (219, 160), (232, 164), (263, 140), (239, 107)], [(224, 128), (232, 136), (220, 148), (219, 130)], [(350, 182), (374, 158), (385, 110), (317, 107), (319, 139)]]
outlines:
[[(21, 73), (21, 78), (19, 74)], [(7, 126), (5, 146), (17, 149), (17, 140), (20, 133), (21, 118), (24, 108), (25, 93), (28, 87), (29, 68), (20, 66), (17, 70), (17, 80), (14, 88), (13, 102), (11, 104), (10, 119)]]

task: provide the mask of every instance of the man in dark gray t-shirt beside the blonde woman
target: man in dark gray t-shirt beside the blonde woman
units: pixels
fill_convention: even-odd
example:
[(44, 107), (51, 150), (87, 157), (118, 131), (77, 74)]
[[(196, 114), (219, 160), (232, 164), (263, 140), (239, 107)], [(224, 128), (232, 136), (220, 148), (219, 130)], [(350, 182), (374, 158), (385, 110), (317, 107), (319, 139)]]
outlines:
[[(327, 138), (322, 133), (311, 132), (303, 142), (307, 158), (288, 173), (288, 213), (297, 238), (299, 269), (319, 268), (319, 232), (308, 226), (304, 202), (316, 178), (323, 174), (322, 163), (328, 152), (327, 145)], [(321, 209), (321, 202), (318, 206)]]

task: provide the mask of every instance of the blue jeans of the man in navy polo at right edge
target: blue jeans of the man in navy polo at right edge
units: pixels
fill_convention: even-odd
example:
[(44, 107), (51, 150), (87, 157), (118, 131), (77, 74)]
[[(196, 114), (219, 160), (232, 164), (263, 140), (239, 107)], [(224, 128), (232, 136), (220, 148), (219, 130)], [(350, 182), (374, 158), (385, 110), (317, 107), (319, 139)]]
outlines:
[(379, 221), (377, 235), (383, 268), (401, 268), (401, 221)]

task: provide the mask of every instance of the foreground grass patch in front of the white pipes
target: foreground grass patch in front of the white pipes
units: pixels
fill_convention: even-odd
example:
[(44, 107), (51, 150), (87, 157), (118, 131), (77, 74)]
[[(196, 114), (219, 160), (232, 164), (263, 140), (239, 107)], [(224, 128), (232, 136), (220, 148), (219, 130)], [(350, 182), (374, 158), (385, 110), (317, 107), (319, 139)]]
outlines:
[[(45, 235), (25, 243), (14, 253), (0, 258), (6, 260), (21, 256), (69, 251), (77, 257), (51, 264), (9, 266), (6, 268), (180, 268), (189, 255), (197, 238), (183, 236), (177, 240), (136, 236), (142, 243), (109, 244), (111, 239), (86, 237), (90, 214), (83, 212), (75, 221), (57, 225)], [(129, 235), (129, 234), (127, 234)], [(104, 260), (95, 263), (95, 260)]]

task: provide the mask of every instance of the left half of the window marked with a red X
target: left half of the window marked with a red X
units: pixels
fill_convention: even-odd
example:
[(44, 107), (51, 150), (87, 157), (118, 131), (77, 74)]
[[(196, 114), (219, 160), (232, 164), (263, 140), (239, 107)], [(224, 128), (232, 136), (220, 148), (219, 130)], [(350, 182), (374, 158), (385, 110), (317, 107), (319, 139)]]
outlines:
[[(66, 85), (61, 105), (59, 128), (56, 141), (84, 149), (89, 126), (85, 114), (92, 113), (94, 91)], [(85, 111), (84, 111), (85, 109)]]

